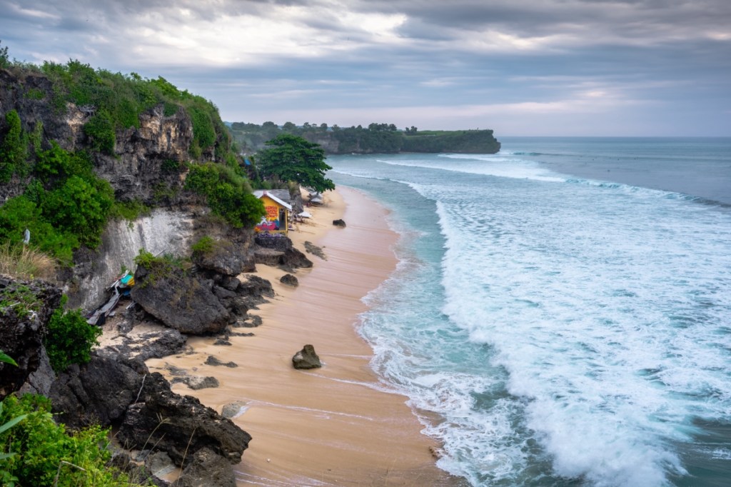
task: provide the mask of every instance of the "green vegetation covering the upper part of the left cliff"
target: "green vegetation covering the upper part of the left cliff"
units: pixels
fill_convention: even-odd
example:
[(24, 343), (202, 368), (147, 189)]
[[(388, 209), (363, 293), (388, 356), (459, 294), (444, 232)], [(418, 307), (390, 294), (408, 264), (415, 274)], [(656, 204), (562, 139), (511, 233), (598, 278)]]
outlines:
[[(111, 218), (133, 218), (190, 197), (183, 189), (204, 196), (213, 213), (235, 227), (260, 219), (246, 166), (212, 102), (164, 78), (75, 60), (10, 61), (7, 48), (0, 49), (0, 78), (0, 243), (20, 246), (29, 230), (33, 249), (69, 265), (75, 249), (98, 246)], [(135, 130), (151, 117), (172, 117), (178, 140), (188, 141), (178, 160), (164, 150), (129, 154), (121, 148), (120, 140), (135, 140)], [(128, 191), (135, 181), (119, 178), (127, 186), (113, 186), (99, 176), (114, 173), (115, 165), (140, 167), (152, 190), (140, 197)], [(186, 170), (193, 180), (207, 170), (216, 181), (205, 189), (200, 181), (184, 184)]]

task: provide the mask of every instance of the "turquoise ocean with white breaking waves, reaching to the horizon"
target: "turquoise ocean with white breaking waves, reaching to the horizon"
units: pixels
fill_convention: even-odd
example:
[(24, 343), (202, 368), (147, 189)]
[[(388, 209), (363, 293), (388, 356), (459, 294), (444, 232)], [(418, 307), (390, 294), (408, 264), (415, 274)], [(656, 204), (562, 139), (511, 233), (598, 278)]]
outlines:
[[(399, 263), (357, 324), (472, 486), (731, 483), (731, 138), (330, 156)], [(351, 223), (351, 222), (347, 222)]]

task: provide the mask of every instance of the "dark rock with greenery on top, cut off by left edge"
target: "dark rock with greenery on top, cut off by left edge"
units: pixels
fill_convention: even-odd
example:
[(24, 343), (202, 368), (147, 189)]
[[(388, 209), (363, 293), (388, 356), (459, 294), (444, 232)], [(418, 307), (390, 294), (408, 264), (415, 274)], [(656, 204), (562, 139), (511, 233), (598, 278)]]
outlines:
[(42, 339), (61, 290), (44, 281), (0, 276), (0, 350), (18, 366), (0, 362), (0, 399), (15, 392), (42, 366)]

